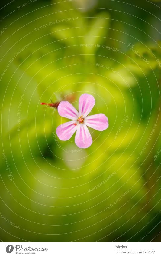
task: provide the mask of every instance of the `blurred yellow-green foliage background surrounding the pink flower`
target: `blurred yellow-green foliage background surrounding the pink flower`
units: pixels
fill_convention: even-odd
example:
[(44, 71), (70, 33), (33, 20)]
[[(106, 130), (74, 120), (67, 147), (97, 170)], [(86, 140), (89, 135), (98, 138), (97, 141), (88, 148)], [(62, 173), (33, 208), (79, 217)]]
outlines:
[[(0, 12), (1, 241), (160, 241), (161, 1), (15, 0)], [(40, 105), (78, 108), (83, 93), (109, 120), (87, 149), (60, 141), (67, 119)]]

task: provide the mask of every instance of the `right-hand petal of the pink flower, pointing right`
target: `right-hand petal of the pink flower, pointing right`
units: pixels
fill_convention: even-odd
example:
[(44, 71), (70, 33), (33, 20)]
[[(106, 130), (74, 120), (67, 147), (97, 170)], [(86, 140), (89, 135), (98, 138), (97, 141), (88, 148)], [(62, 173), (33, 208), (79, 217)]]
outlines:
[(108, 128), (108, 118), (105, 114), (99, 113), (85, 118), (84, 124), (96, 130), (102, 131)]

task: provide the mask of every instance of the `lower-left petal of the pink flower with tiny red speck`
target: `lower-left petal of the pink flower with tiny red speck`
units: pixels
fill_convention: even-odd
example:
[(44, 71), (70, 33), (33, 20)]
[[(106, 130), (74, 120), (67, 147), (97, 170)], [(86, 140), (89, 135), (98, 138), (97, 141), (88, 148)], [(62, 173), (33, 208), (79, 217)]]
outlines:
[(66, 141), (72, 137), (78, 127), (78, 125), (75, 126), (74, 123), (75, 120), (71, 120), (57, 127), (56, 134), (60, 140)]

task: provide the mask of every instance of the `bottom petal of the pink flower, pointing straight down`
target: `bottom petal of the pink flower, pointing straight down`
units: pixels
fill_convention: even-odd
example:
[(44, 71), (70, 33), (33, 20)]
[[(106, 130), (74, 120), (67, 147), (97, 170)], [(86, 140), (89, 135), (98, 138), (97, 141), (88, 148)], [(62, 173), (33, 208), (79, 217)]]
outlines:
[(87, 126), (84, 124), (77, 125), (75, 143), (79, 148), (87, 148), (92, 144), (92, 137)]

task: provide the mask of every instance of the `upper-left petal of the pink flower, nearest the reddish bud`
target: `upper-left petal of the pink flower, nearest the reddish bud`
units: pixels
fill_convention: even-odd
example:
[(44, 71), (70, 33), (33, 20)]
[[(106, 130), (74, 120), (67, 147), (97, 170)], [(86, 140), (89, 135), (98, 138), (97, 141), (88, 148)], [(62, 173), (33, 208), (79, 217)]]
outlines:
[(65, 117), (71, 120), (78, 119), (78, 111), (67, 101), (62, 101), (58, 105), (58, 113), (61, 117)]

